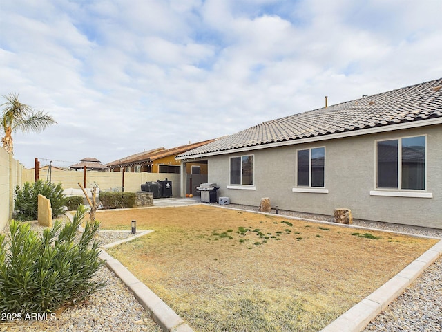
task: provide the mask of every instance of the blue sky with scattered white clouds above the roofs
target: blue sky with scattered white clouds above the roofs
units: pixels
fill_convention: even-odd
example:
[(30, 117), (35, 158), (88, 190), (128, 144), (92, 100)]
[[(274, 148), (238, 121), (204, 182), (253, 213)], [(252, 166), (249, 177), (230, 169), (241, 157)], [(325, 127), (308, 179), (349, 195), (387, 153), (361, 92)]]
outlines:
[(14, 158), (110, 163), (318, 109), (326, 95), (440, 78), (441, 12), (440, 0), (1, 0), (0, 95), (57, 121), (15, 132)]

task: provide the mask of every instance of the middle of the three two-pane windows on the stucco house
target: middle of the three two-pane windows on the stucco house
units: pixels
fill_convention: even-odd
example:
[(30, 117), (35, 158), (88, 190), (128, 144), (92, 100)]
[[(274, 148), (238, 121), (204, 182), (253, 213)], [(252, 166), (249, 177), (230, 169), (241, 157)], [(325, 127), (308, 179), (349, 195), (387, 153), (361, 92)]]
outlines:
[(325, 147), (298, 150), (298, 186), (324, 187)]

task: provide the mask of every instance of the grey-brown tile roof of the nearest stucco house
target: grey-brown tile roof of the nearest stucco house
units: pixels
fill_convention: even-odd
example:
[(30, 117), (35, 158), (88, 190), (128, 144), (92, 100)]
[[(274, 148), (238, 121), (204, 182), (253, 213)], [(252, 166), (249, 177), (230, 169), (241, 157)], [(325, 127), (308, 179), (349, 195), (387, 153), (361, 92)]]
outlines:
[(186, 151), (178, 157), (222, 154), (244, 147), (385, 127), (430, 118), (442, 118), (442, 78), (262, 122), (203, 147)]

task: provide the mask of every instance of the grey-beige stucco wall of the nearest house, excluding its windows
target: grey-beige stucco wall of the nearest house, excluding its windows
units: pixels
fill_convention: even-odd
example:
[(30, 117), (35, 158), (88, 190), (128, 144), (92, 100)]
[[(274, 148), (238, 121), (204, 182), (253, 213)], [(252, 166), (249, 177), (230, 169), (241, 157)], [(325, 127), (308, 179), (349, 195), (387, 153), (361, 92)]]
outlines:
[[(442, 125), (324, 140), (240, 154), (209, 157), (209, 182), (220, 186), (219, 196), (231, 203), (259, 205), (269, 197), (282, 210), (332, 216), (335, 208), (349, 208), (356, 219), (442, 228)], [(427, 136), (427, 189), (432, 198), (371, 196), (376, 190), (376, 140)], [(293, 192), (296, 187), (296, 150), (325, 147), (327, 194)], [(229, 158), (254, 156), (256, 190), (228, 189)], [(390, 190), (391, 191), (391, 190)]]

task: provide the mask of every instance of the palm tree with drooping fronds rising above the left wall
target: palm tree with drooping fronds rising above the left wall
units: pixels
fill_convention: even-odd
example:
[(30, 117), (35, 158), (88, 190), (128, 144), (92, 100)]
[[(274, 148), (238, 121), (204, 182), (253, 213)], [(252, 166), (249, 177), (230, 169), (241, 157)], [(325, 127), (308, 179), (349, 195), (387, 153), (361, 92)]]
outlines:
[(1, 127), (0, 131), (3, 131), (4, 136), (1, 138), (3, 143), (3, 149), (8, 153), (13, 154), (12, 145), (12, 132), (20, 129), (22, 133), (37, 132), (39, 133), (50, 124), (55, 122), (52, 116), (43, 111), (35, 111), (32, 107), (19, 102), (18, 93), (10, 93), (9, 95), (3, 95), (3, 98), (8, 100), (0, 106), (4, 107), (1, 111)]

